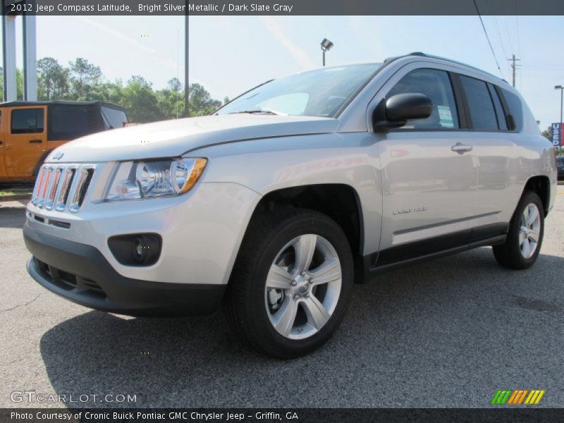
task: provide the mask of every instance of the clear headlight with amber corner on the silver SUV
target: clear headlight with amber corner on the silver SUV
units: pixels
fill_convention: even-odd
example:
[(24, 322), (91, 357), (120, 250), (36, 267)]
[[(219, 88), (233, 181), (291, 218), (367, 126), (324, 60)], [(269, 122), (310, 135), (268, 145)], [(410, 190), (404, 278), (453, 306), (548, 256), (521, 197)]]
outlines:
[(106, 201), (162, 197), (188, 192), (206, 167), (207, 159), (123, 161), (111, 180)]

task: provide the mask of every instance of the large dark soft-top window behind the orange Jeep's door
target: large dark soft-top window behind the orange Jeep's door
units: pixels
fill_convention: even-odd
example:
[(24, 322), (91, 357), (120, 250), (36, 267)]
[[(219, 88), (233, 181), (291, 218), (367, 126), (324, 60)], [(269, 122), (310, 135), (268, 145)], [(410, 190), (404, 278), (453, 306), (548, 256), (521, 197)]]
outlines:
[(49, 107), (49, 140), (74, 140), (96, 132), (92, 106)]

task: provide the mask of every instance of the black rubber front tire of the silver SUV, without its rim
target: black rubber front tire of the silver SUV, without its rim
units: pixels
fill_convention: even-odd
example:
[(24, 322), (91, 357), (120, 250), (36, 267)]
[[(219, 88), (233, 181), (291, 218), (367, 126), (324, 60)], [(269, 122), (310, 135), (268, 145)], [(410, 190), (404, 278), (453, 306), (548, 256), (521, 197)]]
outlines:
[[(342, 278), (341, 292), (329, 320), (317, 333), (298, 340), (281, 335), (271, 324), (265, 300), (266, 277), (284, 246), (305, 234), (320, 235), (331, 243), (341, 264)], [(311, 353), (331, 338), (345, 315), (352, 290), (353, 256), (341, 227), (324, 214), (288, 208), (253, 217), (231, 274), (224, 306), (228, 321), (243, 342), (260, 353), (289, 359)]]

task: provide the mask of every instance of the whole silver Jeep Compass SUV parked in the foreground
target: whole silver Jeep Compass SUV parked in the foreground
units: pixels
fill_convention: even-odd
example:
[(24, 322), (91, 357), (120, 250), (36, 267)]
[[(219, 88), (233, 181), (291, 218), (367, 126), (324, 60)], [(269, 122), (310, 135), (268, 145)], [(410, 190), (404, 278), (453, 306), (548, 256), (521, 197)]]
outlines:
[(297, 357), (385, 269), (484, 245), (532, 266), (555, 196), (553, 148), (520, 94), (416, 53), (64, 145), (23, 232), (30, 275), (63, 298), (133, 316), (223, 303), (252, 347)]

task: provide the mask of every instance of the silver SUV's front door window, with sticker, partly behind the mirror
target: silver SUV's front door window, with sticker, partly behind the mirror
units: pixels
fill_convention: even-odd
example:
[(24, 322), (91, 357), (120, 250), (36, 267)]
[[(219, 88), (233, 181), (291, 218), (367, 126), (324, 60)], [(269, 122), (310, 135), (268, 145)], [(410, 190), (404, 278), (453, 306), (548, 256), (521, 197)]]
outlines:
[(453, 87), (445, 71), (437, 69), (416, 69), (407, 73), (388, 92), (386, 98), (396, 94), (417, 92), (433, 102), (433, 113), (427, 119), (407, 121), (402, 129), (443, 130), (460, 128), (454, 100)]

